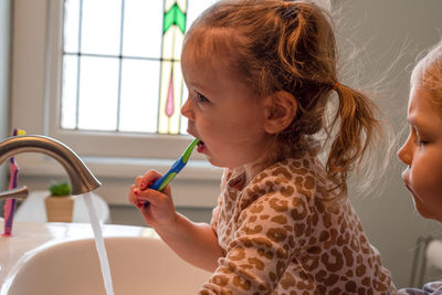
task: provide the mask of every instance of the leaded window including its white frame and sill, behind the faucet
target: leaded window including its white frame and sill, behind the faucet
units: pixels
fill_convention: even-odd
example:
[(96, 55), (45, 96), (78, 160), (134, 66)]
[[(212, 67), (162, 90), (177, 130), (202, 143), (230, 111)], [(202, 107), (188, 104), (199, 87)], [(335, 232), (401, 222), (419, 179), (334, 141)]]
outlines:
[(12, 124), (81, 156), (176, 158), (189, 143), (179, 115), (182, 32), (213, 2), (17, 1)]

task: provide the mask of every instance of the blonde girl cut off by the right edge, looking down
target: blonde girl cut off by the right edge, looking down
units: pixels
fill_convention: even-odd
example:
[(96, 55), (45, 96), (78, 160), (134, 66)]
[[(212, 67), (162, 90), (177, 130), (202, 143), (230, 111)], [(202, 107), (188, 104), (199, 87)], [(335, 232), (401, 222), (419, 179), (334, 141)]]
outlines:
[[(402, 173), (418, 212), (442, 222), (442, 42), (414, 67), (408, 104), (410, 135), (398, 151)], [(442, 282), (399, 294), (442, 294)]]

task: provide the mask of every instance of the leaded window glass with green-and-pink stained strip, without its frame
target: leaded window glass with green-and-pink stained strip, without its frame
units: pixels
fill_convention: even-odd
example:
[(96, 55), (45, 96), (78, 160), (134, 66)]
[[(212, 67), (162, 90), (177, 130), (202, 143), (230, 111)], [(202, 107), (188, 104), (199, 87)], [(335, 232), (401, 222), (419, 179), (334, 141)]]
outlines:
[(186, 134), (181, 45), (211, 2), (66, 0), (60, 127)]

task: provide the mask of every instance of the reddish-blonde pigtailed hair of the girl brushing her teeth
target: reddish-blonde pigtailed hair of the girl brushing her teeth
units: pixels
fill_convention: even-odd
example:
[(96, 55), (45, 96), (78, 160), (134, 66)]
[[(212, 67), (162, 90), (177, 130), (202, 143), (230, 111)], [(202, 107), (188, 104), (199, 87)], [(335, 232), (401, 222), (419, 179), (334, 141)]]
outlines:
[[(337, 46), (326, 12), (304, 1), (221, 0), (189, 29), (185, 50), (190, 42), (201, 71), (228, 66), (259, 96), (293, 94), (298, 112), (276, 140), (292, 150), (305, 149), (312, 136), (325, 131), (327, 175), (336, 188), (347, 190), (347, 175), (375, 144), (379, 120), (369, 98), (336, 84)], [(334, 89), (339, 103), (328, 120)]]

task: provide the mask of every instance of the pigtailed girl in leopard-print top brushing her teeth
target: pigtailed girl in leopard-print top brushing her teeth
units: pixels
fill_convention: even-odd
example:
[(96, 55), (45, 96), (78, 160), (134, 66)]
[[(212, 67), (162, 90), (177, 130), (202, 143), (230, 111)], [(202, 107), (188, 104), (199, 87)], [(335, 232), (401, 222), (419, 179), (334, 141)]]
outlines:
[(181, 113), (198, 151), (225, 168), (218, 207), (210, 225), (191, 222), (170, 187), (148, 189), (152, 170), (129, 200), (178, 255), (213, 272), (200, 294), (396, 292), (346, 196), (379, 122), (366, 96), (337, 82), (336, 53), (327, 15), (301, 1), (220, 1), (187, 33)]

